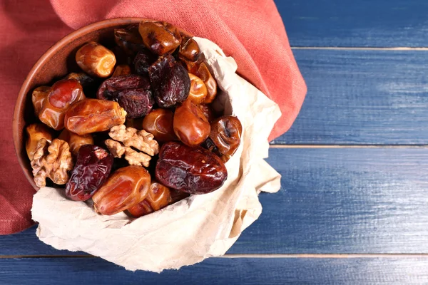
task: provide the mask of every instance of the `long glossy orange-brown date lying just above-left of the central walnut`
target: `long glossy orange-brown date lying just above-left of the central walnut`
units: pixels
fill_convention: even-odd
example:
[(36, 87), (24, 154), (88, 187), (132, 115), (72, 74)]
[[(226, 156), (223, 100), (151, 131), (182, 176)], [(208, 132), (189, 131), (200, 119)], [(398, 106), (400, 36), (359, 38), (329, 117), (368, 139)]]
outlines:
[(78, 135), (103, 132), (125, 123), (126, 111), (113, 101), (86, 99), (73, 104), (66, 112), (64, 125)]

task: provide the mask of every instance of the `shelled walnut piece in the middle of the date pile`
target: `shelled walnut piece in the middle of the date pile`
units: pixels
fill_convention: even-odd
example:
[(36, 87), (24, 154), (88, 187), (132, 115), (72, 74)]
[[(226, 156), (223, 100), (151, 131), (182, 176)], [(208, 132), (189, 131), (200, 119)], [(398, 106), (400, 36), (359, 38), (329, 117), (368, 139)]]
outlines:
[(116, 125), (111, 128), (108, 135), (113, 139), (105, 141), (108, 150), (114, 157), (125, 155), (125, 159), (128, 160), (130, 165), (148, 167), (151, 157), (159, 153), (158, 142), (153, 139), (154, 136), (151, 133), (147, 133), (145, 130)]

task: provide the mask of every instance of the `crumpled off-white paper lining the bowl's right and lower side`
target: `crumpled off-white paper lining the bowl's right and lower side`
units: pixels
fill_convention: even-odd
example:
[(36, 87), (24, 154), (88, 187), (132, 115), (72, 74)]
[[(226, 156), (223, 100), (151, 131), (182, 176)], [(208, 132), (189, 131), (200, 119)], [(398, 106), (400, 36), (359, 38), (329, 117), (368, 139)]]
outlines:
[(238, 116), (243, 124), (240, 147), (226, 163), (228, 180), (223, 187), (138, 219), (123, 213), (96, 214), (88, 203), (66, 199), (63, 189), (44, 187), (34, 195), (31, 209), (42, 242), (88, 252), (128, 270), (161, 272), (225, 254), (258, 219), (258, 194), (280, 189), (280, 175), (263, 160), (280, 109), (235, 73), (235, 61), (215, 43), (195, 41), (222, 90), (215, 107)]

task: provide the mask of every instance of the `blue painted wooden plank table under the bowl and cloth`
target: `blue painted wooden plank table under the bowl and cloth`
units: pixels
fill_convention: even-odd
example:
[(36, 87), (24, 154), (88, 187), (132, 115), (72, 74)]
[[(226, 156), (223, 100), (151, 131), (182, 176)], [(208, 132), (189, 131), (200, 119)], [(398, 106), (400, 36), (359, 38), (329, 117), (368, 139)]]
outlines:
[(308, 93), (228, 254), (130, 272), (32, 228), (0, 237), (0, 284), (428, 283), (428, 1), (276, 3)]

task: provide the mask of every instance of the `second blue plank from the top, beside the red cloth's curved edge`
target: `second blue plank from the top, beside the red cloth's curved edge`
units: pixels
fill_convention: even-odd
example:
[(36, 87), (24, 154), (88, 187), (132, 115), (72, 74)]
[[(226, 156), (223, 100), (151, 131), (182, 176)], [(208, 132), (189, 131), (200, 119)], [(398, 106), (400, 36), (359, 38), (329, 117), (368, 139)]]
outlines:
[(292, 128), (273, 143), (428, 143), (428, 51), (294, 53), (307, 96)]

